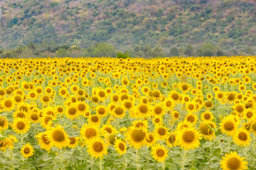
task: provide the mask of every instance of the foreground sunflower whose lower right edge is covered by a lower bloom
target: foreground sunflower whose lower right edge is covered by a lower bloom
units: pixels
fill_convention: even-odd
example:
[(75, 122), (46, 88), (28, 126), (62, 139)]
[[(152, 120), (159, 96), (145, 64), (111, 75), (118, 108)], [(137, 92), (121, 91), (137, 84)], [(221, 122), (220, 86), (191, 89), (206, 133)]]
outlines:
[(99, 136), (101, 136), (99, 132), (99, 126), (84, 124), (83, 127), (80, 129), (80, 136), (86, 142), (88, 142), (93, 137), (98, 138)]

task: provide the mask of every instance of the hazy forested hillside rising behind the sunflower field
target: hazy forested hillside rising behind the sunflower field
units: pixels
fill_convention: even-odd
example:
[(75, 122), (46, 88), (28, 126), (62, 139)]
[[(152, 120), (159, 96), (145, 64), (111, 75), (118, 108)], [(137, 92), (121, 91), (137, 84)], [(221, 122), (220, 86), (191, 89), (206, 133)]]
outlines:
[(97, 55), (100, 43), (131, 56), (250, 55), (256, 1), (0, 0), (0, 49), (31, 42), (33, 55), (63, 44)]

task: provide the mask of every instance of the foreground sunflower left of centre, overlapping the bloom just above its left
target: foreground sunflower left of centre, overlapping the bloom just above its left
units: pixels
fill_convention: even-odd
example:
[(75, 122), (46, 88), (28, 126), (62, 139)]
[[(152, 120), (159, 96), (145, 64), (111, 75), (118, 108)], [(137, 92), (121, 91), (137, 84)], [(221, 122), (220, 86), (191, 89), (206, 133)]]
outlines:
[(102, 159), (108, 153), (108, 148), (102, 139), (93, 138), (87, 145), (87, 152), (92, 157)]

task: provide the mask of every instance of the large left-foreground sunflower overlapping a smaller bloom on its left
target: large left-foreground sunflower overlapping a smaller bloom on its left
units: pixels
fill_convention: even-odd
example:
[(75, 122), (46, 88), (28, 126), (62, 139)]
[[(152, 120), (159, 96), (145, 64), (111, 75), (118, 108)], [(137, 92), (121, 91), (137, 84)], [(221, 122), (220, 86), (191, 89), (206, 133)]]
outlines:
[(51, 147), (63, 148), (70, 143), (67, 133), (64, 131), (64, 128), (61, 125), (56, 125), (55, 127), (47, 130), (47, 141), (50, 142)]

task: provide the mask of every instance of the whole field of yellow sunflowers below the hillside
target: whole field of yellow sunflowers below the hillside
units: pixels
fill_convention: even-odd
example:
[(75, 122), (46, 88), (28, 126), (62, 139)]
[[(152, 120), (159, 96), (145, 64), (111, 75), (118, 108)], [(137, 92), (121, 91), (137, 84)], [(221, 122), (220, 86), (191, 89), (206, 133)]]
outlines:
[(254, 170), (256, 57), (0, 59), (1, 170)]

